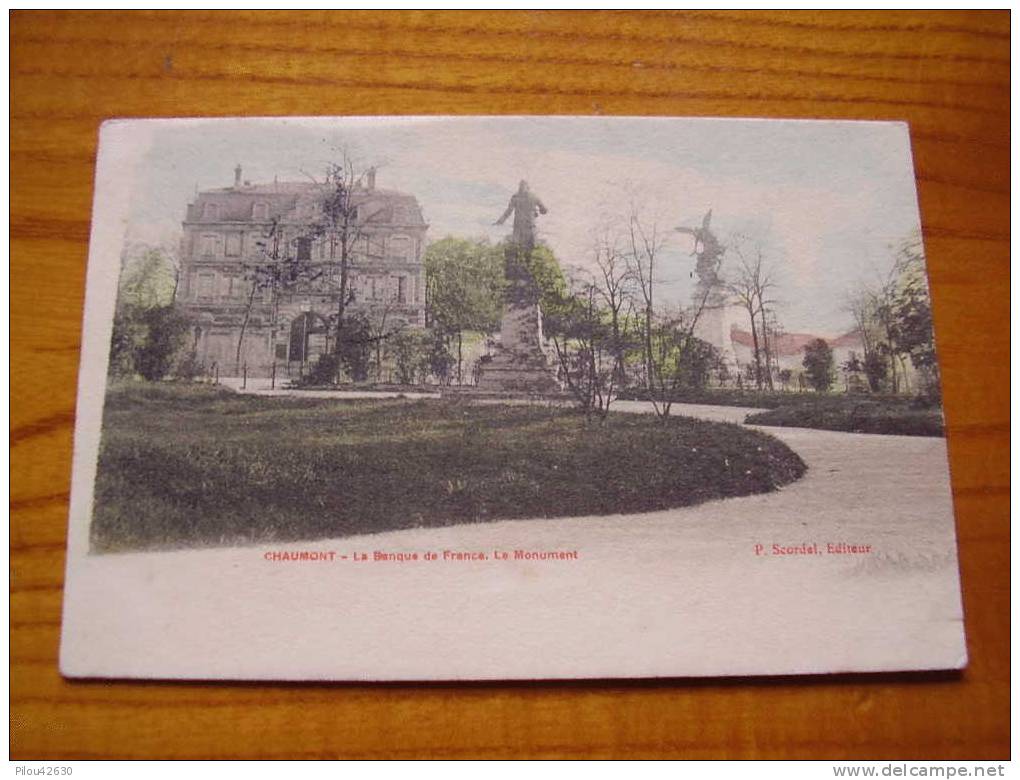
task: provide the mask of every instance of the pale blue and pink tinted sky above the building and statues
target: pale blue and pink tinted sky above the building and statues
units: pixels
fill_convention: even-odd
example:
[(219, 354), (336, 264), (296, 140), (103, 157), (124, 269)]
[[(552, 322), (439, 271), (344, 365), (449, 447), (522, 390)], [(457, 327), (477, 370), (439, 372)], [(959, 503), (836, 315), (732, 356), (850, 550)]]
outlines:
[[(920, 230), (907, 125), (662, 117), (361, 117), (118, 122), (134, 150), (126, 238), (175, 244), (199, 190), (321, 177), (338, 149), (377, 165), (377, 186), (411, 193), (428, 239), (499, 241), (524, 178), (549, 209), (539, 237), (568, 271), (591, 267), (593, 237), (634, 194), (667, 236), (662, 293), (692, 295), (700, 224), (725, 246), (761, 247), (786, 330), (851, 327), (847, 292), (880, 277)], [(730, 251), (723, 261), (733, 262)]]

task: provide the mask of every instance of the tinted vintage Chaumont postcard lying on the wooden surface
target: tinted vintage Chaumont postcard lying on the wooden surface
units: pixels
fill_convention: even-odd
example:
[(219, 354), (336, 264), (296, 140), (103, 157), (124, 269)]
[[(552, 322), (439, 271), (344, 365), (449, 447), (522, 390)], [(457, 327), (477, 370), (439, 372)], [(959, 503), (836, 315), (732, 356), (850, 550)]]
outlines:
[(907, 125), (110, 121), (60, 663), (966, 664)]

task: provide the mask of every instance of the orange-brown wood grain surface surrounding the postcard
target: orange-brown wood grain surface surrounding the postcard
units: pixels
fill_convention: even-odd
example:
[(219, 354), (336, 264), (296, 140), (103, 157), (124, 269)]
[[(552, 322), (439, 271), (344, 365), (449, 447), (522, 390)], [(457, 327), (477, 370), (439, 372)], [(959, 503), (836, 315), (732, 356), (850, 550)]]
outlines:
[[(14, 12), (10, 29), (13, 758), (1009, 756), (1008, 12)], [(394, 113), (908, 120), (970, 667), (635, 683), (63, 680), (99, 123)]]

